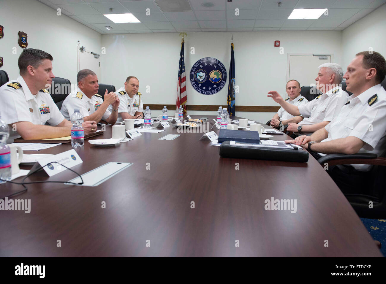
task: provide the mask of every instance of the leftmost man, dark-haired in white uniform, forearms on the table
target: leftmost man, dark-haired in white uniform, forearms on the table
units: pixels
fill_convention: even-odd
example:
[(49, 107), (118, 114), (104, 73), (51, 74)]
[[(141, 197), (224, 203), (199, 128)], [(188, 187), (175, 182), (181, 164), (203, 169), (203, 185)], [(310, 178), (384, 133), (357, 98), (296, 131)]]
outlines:
[[(20, 76), (0, 87), (0, 115), (10, 126), (8, 143), (23, 139), (50, 139), (71, 135), (72, 124), (60, 113), (49, 92), (52, 56), (39, 49), (23, 49), (19, 56)], [(48, 122), (50, 125), (45, 125)], [(95, 121), (83, 122), (86, 134), (97, 128)]]

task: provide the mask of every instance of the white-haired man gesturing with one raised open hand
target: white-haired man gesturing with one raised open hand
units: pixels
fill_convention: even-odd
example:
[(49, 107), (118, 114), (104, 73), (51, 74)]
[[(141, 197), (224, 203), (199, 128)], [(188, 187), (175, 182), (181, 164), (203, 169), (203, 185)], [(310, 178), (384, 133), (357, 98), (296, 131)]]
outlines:
[(296, 135), (311, 135), (325, 127), (338, 115), (342, 106), (347, 103), (349, 95), (342, 90), (340, 83), (343, 78), (343, 69), (336, 63), (324, 63), (319, 66), (316, 87), (323, 94), (303, 105), (291, 105), (283, 100), (277, 91), (268, 92), (269, 97), (279, 103), (284, 110), (294, 116), (305, 117), (299, 123), (288, 123), (287, 131)]

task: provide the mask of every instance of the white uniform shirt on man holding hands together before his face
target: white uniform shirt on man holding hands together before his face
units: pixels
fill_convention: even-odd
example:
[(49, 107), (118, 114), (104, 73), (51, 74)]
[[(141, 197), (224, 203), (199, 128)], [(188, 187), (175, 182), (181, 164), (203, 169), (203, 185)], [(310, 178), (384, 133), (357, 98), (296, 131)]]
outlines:
[[(83, 117), (88, 117), (96, 112), (102, 103), (102, 96), (95, 94), (91, 98), (88, 98), (79, 87), (76, 87), (76, 89), (63, 101), (60, 112), (67, 120), (70, 120), (71, 115), (74, 113), (74, 108), (79, 108)], [(107, 109), (103, 114), (102, 119), (106, 120), (110, 115), (111, 112)]]

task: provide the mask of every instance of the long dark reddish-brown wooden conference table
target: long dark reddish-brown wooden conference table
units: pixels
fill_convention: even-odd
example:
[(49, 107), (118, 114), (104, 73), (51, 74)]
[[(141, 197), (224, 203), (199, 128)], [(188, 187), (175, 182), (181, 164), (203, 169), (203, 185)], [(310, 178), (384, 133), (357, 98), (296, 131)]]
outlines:
[[(157, 140), (166, 134), (181, 136)], [(111, 135), (107, 126), (103, 135), (91, 139)], [(227, 159), (219, 156), (220, 147), (199, 141), (202, 135), (169, 127), (112, 147), (95, 147), (86, 140), (77, 151), (83, 163), (74, 171), (83, 174), (109, 161), (134, 164), (96, 187), (27, 184), (28, 191), (13, 198), (30, 199), (30, 213), (0, 211), (0, 256), (382, 257), (347, 199), (311, 155), (307, 163)], [(62, 144), (39, 153), (70, 149), (71, 144)], [(74, 177), (66, 170), (52, 177), (37, 172), (27, 180)], [(0, 185), (2, 196), (21, 189)], [(296, 199), (296, 213), (265, 210), (264, 201), (271, 197)]]

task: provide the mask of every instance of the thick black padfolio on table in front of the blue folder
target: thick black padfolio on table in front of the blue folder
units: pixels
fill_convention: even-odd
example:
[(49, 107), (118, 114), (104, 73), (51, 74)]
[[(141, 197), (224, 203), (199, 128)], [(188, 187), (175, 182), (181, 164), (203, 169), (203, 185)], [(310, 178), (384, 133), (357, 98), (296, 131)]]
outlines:
[(307, 162), (308, 152), (303, 149), (278, 149), (253, 146), (230, 145), (225, 141), (220, 146), (220, 156), (225, 158), (242, 158), (254, 160)]

